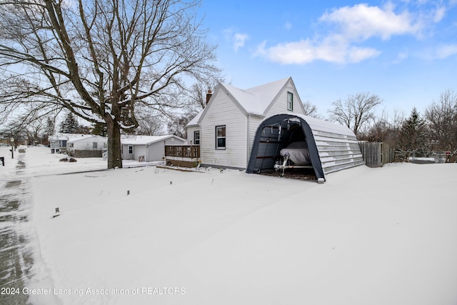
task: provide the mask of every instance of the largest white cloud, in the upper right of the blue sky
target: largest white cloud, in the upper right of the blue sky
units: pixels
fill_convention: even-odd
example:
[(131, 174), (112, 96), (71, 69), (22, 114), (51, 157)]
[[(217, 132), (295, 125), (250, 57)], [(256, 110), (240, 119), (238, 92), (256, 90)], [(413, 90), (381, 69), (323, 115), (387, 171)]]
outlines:
[[(433, 20), (439, 21), (446, 10), (437, 8), (430, 14), (434, 14)], [(265, 56), (281, 64), (306, 64), (315, 60), (347, 64), (379, 56), (380, 50), (361, 44), (373, 37), (383, 41), (400, 35), (420, 37), (426, 24), (418, 15), (406, 10), (396, 13), (394, 9), (391, 2), (386, 2), (382, 7), (357, 4), (333, 9), (318, 19), (319, 23), (330, 26), (325, 36), (270, 47), (263, 41), (255, 56)]]

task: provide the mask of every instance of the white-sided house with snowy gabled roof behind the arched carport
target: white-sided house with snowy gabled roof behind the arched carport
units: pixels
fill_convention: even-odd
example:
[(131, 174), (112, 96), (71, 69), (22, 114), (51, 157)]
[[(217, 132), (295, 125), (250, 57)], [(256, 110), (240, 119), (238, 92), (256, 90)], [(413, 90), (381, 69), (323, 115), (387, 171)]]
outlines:
[(304, 112), (291, 77), (246, 90), (219, 84), (206, 108), (187, 124), (187, 141), (200, 146), (204, 166), (246, 169), (263, 119)]

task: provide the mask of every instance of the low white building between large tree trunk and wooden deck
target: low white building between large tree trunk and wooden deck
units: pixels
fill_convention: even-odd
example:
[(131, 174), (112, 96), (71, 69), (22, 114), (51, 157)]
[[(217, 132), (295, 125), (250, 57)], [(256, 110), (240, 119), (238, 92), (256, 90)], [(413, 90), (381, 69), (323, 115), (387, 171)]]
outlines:
[(179, 136), (136, 136), (122, 135), (122, 159), (139, 161), (163, 161), (165, 145), (181, 145), (184, 139)]

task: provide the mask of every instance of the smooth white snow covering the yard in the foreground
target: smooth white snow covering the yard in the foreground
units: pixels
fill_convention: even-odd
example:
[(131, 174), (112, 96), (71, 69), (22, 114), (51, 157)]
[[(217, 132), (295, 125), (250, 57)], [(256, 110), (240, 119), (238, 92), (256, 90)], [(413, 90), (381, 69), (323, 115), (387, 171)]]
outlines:
[(62, 175), (106, 163), (59, 157), (29, 147), (22, 174), (34, 304), (457, 304), (457, 164), (316, 184), (156, 166)]

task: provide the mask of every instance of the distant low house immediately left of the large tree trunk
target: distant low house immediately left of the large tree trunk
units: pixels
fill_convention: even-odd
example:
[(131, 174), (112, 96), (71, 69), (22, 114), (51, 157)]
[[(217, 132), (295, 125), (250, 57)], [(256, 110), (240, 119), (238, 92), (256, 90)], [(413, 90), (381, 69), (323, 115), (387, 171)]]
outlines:
[(108, 149), (108, 138), (93, 134), (81, 135), (66, 142), (66, 153), (76, 158), (101, 157)]

